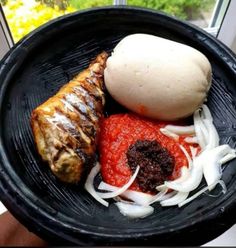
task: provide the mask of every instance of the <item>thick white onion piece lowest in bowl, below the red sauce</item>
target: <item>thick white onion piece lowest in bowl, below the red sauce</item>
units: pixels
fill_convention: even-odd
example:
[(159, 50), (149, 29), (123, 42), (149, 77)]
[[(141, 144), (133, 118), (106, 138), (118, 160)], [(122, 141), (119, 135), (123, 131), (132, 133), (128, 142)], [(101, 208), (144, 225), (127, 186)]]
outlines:
[(144, 218), (154, 212), (154, 208), (151, 206), (139, 206), (124, 202), (116, 202), (115, 205), (119, 208), (121, 214), (131, 219)]

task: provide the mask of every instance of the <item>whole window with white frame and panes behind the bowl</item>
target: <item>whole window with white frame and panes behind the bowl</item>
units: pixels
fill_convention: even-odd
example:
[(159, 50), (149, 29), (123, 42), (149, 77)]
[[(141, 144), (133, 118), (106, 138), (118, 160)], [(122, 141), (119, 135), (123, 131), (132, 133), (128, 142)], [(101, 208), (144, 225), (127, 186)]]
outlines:
[[(236, 1), (233, 0), (0, 0), (0, 3), (11, 31), (1, 9), (0, 41), (3, 45), (0, 57), (13, 43), (10, 33), (17, 42), (53, 18), (80, 9), (112, 4), (153, 8), (174, 15), (204, 28), (236, 50)], [(228, 32), (223, 31), (226, 29)]]

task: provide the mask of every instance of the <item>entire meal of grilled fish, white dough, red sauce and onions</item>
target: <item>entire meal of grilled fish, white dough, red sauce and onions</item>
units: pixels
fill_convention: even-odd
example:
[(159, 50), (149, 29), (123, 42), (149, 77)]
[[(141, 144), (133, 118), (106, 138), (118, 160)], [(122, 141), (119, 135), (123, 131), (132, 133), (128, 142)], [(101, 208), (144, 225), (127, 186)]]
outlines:
[[(94, 165), (85, 189), (106, 207), (115, 200), (129, 218), (152, 214), (157, 202), (182, 207), (217, 185), (225, 193), (222, 165), (236, 151), (220, 144), (204, 104), (211, 86), (207, 58), (145, 34), (125, 37), (107, 57), (99, 54), (32, 112), (38, 152), (53, 173), (77, 183)], [(104, 117), (105, 86), (132, 112)], [(185, 118), (191, 115), (192, 122)]]

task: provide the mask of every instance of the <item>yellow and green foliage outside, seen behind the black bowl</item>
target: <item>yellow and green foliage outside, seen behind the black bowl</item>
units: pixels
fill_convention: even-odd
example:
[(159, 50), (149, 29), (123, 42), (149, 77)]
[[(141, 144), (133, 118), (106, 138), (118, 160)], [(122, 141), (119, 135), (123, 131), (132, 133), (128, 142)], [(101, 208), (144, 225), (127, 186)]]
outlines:
[[(112, 0), (0, 0), (15, 41), (38, 26), (76, 10), (112, 5)], [(215, 0), (127, 0), (129, 5), (152, 8), (184, 20), (197, 19)]]

